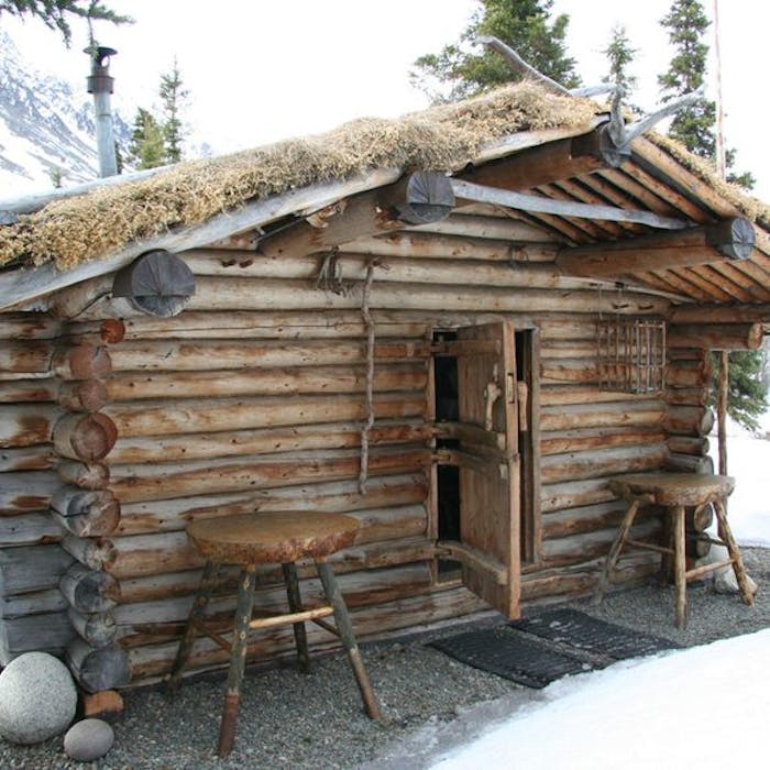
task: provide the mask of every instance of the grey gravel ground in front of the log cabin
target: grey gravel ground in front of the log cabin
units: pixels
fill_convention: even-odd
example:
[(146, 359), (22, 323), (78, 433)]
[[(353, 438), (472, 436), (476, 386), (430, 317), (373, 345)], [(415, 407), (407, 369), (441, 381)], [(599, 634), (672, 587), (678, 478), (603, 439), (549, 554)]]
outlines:
[[(736, 595), (714, 594), (705, 583), (689, 587), (690, 619), (681, 631), (673, 624), (672, 587), (645, 586), (609, 594), (600, 607), (585, 602), (572, 606), (688, 647), (750, 634), (770, 627), (770, 549), (745, 548), (743, 553), (748, 573), (760, 585), (754, 609)], [(499, 622), (490, 615), (476, 625)], [(426, 647), (430, 639), (453, 632), (457, 626), (363, 646), (384, 713), (378, 722), (364, 716), (346, 659), (334, 654), (315, 660), (309, 674), (290, 668), (248, 673), (235, 748), (227, 760), (215, 754), (223, 695), (219, 676), (185, 683), (173, 701), (156, 689), (128, 693), (123, 717), (114, 724), (116, 745), (102, 760), (68, 760), (62, 737), (30, 747), (0, 739), (0, 768), (384, 770), (407, 767), (406, 756), (413, 758), (408, 767), (419, 767), (417, 757), (427, 743), (440, 740), (446, 748), (470, 737), (473, 728), (463, 717), (474, 708), (477, 726), (477, 704), (484, 704), (490, 719), (497, 719), (539, 697)]]

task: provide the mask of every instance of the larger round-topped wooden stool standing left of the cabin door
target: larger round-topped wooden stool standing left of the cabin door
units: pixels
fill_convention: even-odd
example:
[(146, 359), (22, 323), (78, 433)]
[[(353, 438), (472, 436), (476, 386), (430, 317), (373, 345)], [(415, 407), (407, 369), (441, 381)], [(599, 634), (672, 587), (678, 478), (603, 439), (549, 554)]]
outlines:
[[(309, 662), (306, 620), (311, 620), (340, 637), (359, 683), (366, 714), (372, 719), (380, 717), (380, 706), (355, 644), (344, 598), (332, 569), (326, 562), (327, 556), (353, 542), (358, 528), (359, 522), (350, 516), (290, 510), (206, 519), (188, 526), (187, 532), (207, 563), (190, 610), (185, 636), (179, 642), (168, 686), (172, 691), (178, 686), (182, 671), (193, 649), (196, 631), (201, 631), (230, 652), (228, 689), (219, 730), (220, 757), (230, 754), (235, 737), (246, 658), (246, 636), (250, 629), (293, 625), (297, 657), (304, 671), (307, 671)], [(315, 561), (323, 585), (327, 605), (302, 606), (295, 565), (295, 562), (300, 559)], [(290, 612), (253, 618), (257, 564), (272, 563), (282, 565)], [(232, 642), (210, 630), (204, 622), (204, 613), (222, 564), (242, 566)], [(332, 614), (334, 626), (321, 619)]]

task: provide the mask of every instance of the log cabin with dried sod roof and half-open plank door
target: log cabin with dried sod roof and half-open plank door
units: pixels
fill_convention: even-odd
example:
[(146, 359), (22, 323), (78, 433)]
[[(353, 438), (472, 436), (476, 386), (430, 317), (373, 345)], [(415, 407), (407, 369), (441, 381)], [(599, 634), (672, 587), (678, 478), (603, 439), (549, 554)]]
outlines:
[(359, 519), (333, 566), (363, 639), (590, 594), (608, 482), (711, 472), (710, 351), (770, 328), (768, 209), (610, 125), (525, 82), (0, 201), (0, 662), (164, 676), (186, 525), (253, 510)]

